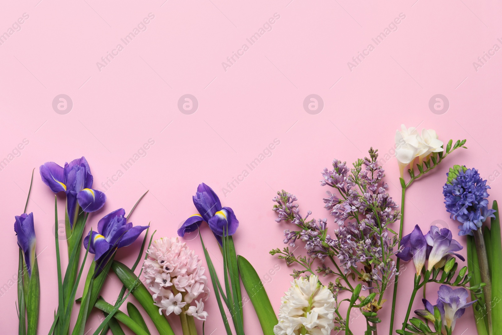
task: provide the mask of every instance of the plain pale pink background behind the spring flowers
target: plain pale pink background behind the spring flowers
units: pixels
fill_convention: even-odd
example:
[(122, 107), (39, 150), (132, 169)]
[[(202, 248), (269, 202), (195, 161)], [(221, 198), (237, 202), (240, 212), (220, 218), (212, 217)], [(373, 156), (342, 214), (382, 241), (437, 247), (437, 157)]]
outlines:
[[(115, 180), (106, 189), (104, 208), (90, 216), (88, 229), (111, 210), (129, 211), (149, 189), (132, 221), (141, 225), (151, 221), (156, 237), (175, 236), (181, 222), (194, 213), (191, 196), (204, 181), (234, 209), (240, 220), (237, 252), (254, 264), (276, 311), (292, 269), (268, 254), (283, 247), (282, 231), (287, 228), (274, 221), (275, 192), (283, 188), (293, 192), (304, 212), (311, 209), (314, 217), (326, 217), (322, 197), (327, 189), (319, 186), (320, 171), (330, 167), (333, 158), (352, 162), (363, 157), (370, 146), (380, 149), (381, 158), (392, 155), (394, 133), (401, 123), (435, 129), (444, 141), (465, 138), (469, 147), (407, 192), (405, 233), (415, 224), (426, 230), (435, 222), (456, 234), (457, 223), (449, 219), (441, 194), (445, 172), (453, 164), (478, 168), (490, 181), (490, 199), (502, 199), (496, 129), (502, 51), (489, 60), (485, 57), (477, 71), (473, 65), (494, 44), (502, 47), (497, 40), (502, 37), (498, 2), (164, 1), (31, 0), (11, 2), (0, 12), (0, 33), (8, 32), (24, 13), (29, 15), (21, 30), (0, 45), (0, 160), (9, 161), (0, 171), (4, 222), (0, 285), (17, 273), (14, 215), (23, 210), (30, 173), (36, 167), (28, 211), (36, 219), (40, 333), (48, 332), (57, 306), (53, 194), (38, 174), (46, 161), (63, 165), (83, 155), (91, 165), (95, 187), (103, 189), (100, 185), (107, 178)], [(155, 18), (146, 31), (124, 45), (120, 39), (149, 13)], [(272, 30), (250, 45), (246, 38), (259, 32), (275, 13), (280, 19)], [(371, 39), (400, 13), (406, 18), (397, 31), (375, 45)], [(119, 43), (123, 50), (99, 71), (96, 62)], [(350, 71), (347, 62), (370, 43), (374, 50)], [(225, 71), (222, 62), (242, 44), (248, 50)], [(177, 107), (187, 93), (199, 103), (192, 115)], [(303, 108), (304, 98), (312, 93), (324, 101), (317, 115)], [(53, 110), (52, 100), (58, 94), (71, 97), (68, 114)], [(448, 98), (446, 113), (429, 109), (435, 94)], [(24, 139), (29, 144), (13, 152)], [(146, 156), (124, 170), (121, 164), (149, 139), (155, 144)], [(250, 171), (246, 164), (274, 139), (280, 145)], [(384, 167), (389, 191), (399, 202), (395, 158)], [(244, 169), (249, 175), (224, 196), (222, 188)], [(117, 170), (123, 172), (119, 178)], [(63, 218), (62, 199), (59, 210)], [(331, 218), (329, 222), (333, 227)], [(207, 227), (203, 235), (218, 259)], [(198, 240), (188, 243), (203, 257)], [(116, 259), (132, 265), (139, 245), (137, 241), (121, 250)], [(303, 248), (298, 245), (297, 253)], [(465, 249), (461, 253), (465, 255)], [(412, 270), (402, 276), (396, 325), (404, 317), (412, 277)], [(113, 301), (119, 289), (118, 279), (110, 274), (102, 295)], [(429, 299), (435, 300), (436, 291), (437, 286), (428, 286)], [(388, 293), (379, 325), (382, 334), (388, 333), (391, 290)], [(0, 297), (3, 333), (17, 332), (16, 298), (15, 286)], [(413, 307), (421, 307), (419, 299)], [(244, 309), (246, 332), (259, 333), (252, 306), (245, 304)], [(206, 334), (224, 333), (214, 296), (207, 310)], [(89, 333), (101, 315), (91, 315)], [(169, 320), (180, 333), (178, 318)], [(362, 324), (361, 316), (352, 320), (351, 327), (361, 333)], [(475, 333), (470, 309), (457, 322), (455, 333), (464, 329), (465, 334)], [(155, 333), (153, 326), (150, 330)]]

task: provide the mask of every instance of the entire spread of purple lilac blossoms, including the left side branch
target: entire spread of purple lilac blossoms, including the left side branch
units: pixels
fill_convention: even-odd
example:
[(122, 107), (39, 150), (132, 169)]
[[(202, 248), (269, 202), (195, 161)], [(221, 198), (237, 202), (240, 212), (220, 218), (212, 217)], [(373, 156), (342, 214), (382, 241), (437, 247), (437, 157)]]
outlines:
[(371, 148), (369, 156), (358, 159), (352, 169), (335, 159), (333, 169), (322, 172), (321, 185), (337, 191), (323, 199), (325, 208), (335, 217), (336, 229), (331, 236), (327, 219), (309, 218), (311, 211), (303, 217), (293, 194), (278, 192), (273, 210), (278, 214), (277, 222), (296, 226), (284, 231), (285, 244), (293, 247), (300, 239), (311, 258), (322, 262), (326, 257), (333, 262), (337, 258), (345, 276), (354, 272), (370, 286), (365, 289), (377, 289), (381, 294), (397, 274), (392, 256), (398, 252), (398, 239), (388, 226), (400, 218), (400, 213), (382, 181), (385, 175), (377, 161), (378, 153)]

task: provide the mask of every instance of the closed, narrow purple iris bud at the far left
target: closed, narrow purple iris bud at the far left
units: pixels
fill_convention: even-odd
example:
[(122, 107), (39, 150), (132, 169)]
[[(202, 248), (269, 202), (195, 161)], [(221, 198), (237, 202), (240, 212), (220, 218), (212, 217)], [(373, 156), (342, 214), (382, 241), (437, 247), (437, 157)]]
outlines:
[(30, 214), (23, 213), (20, 216), (16, 216), (14, 231), (18, 236), (18, 246), (23, 251), (28, 275), (31, 277), (31, 271), (33, 265), (35, 264), (35, 247), (37, 245), (35, 227), (33, 224), (33, 212)]

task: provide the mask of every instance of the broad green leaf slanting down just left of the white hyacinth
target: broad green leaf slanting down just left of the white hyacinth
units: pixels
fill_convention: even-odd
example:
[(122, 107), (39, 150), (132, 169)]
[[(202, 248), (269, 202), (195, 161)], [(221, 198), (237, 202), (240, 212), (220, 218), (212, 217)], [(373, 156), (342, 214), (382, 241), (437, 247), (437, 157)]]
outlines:
[(237, 256), (237, 260), (242, 284), (253, 303), (253, 307), (255, 307), (263, 334), (274, 335), (274, 326), (278, 323), (278, 320), (265, 287), (253, 265), (240, 255)]

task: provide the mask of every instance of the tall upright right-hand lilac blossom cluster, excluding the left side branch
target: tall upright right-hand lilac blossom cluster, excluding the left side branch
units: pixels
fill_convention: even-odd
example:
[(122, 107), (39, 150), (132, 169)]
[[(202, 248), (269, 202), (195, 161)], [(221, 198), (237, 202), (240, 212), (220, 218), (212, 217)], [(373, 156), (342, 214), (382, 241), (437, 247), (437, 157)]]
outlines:
[(369, 272), (373, 264), (370, 281), (386, 284), (397, 271), (391, 256), (398, 244), (388, 226), (400, 218), (400, 213), (382, 181), (385, 174), (378, 164), (378, 153), (371, 148), (369, 156), (358, 159), (350, 174), (345, 162), (335, 159), (332, 170), (324, 169), (321, 185), (338, 191), (323, 200), (338, 225), (334, 249), (345, 272), (357, 263)]

